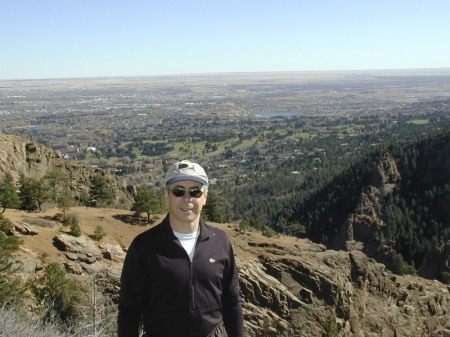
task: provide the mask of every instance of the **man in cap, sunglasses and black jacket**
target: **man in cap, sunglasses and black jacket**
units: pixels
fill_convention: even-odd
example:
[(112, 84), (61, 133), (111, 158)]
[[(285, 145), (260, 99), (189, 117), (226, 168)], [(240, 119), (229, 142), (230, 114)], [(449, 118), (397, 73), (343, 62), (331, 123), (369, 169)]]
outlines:
[(196, 163), (165, 177), (169, 212), (130, 245), (122, 271), (119, 337), (243, 337), (238, 271), (229, 238), (201, 219), (208, 177)]

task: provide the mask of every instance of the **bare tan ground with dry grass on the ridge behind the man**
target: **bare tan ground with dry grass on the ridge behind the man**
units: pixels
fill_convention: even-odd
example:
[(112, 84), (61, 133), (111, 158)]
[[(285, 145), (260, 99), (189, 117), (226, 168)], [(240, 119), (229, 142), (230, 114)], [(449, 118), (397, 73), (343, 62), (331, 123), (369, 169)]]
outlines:
[[(47, 262), (61, 262), (63, 260), (60, 257), (62, 253), (53, 246), (53, 239), (59, 232), (68, 232), (69, 228), (58, 222), (54, 222), (53, 226), (49, 225), (49, 223), (52, 223), (52, 220), (49, 219), (52, 219), (58, 213), (59, 210), (57, 208), (48, 208), (41, 213), (28, 213), (13, 209), (6, 210), (4, 216), (13, 223), (28, 223), (39, 230), (38, 235), (22, 237), (24, 240), (22, 255), (45, 256)], [(129, 210), (72, 207), (69, 213), (78, 218), (83, 235), (92, 236), (95, 227), (101, 226), (106, 232), (106, 236), (101, 242), (119, 244), (124, 248), (130, 245), (136, 235), (155, 226), (165, 216), (159, 215), (155, 217), (155, 221), (152, 224), (145, 224), (143, 221), (133, 219), (133, 213)], [(40, 223), (44, 225), (39, 225)], [(292, 247), (298, 244), (299, 240), (281, 235), (267, 238), (253, 230), (243, 233), (237, 230), (237, 224), (210, 224), (224, 230), (229, 235), (236, 255), (243, 259), (255, 257), (258, 254), (267, 254), (267, 249), (258, 248), (260, 243), (264, 243), (265, 246)], [(251, 245), (249, 244), (250, 242), (252, 243)]]

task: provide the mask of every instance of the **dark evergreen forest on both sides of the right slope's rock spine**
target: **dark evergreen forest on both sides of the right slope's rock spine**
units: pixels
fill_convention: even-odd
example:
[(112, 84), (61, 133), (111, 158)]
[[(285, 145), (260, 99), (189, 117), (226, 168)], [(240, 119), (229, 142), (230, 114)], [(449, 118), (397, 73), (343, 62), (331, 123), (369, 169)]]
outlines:
[(297, 206), (291, 219), (304, 223), (311, 239), (327, 243), (348, 214), (355, 212), (361, 193), (371, 186), (380, 162), (389, 153), (398, 165), (401, 179), (391, 193), (380, 195), (379, 212), (387, 224), (385, 239), (413, 262), (417, 249), (423, 253), (419, 247), (413, 249), (414, 240), (430, 249), (450, 239), (450, 223), (443, 214), (450, 178), (442, 163), (448, 160), (449, 141), (446, 132), (370, 152), (319, 191), (303, 200), (295, 199)]

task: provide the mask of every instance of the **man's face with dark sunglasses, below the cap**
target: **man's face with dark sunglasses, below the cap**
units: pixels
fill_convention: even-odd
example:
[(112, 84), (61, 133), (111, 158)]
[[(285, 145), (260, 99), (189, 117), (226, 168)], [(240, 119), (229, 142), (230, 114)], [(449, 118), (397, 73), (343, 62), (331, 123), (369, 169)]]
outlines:
[[(200, 219), (200, 213), (206, 203), (207, 191), (201, 193), (202, 184), (196, 181), (183, 180), (171, 184), (166, 189), (171, 221), (177, 224), (188, 224)], [(200, 196), (198, 196), (201, 194)]]

